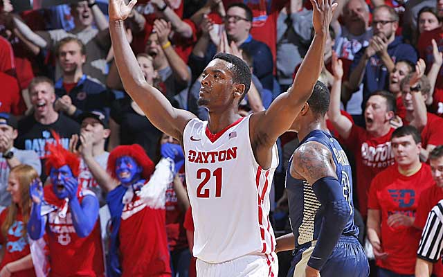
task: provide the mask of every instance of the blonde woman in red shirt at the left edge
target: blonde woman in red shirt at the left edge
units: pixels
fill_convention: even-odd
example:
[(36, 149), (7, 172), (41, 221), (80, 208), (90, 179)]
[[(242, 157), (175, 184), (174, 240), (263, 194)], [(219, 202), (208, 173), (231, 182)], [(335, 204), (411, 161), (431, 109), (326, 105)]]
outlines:
[(35, 276), (26, 224), (31, 204), (29, 186), (38, 177), (37, 171), (25, 164), (10, 171), (6, 190), (11, 194), (12, 202), (0, 214), (0, 244), (3, 252), (3, 256), (0, 256), (0, 277)]

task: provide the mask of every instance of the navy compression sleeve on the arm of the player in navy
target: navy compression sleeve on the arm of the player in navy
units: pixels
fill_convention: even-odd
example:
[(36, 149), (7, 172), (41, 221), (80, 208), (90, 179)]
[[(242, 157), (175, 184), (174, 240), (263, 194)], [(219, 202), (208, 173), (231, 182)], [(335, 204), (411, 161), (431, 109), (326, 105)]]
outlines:
[(321, 178), (312, 188), (323, 206), (324, 215), (316, 246), (307, 264), (320, 270), (334, 250), (352, 210), (336, 178)]

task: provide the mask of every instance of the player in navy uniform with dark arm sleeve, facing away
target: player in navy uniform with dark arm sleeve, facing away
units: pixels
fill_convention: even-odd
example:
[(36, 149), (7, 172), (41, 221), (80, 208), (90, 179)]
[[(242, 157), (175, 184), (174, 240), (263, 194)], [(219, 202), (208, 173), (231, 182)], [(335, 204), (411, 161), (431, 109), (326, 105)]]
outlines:
[(366, 277), (368, 260), (354, 225), (350, 163), (321, 127), (328, 107), (329, 91), (317, 82), (291, 126), (300, 140), (286, 177), (292, 233), (277, 239), (276, 251), (295, 248), (288, 276)]

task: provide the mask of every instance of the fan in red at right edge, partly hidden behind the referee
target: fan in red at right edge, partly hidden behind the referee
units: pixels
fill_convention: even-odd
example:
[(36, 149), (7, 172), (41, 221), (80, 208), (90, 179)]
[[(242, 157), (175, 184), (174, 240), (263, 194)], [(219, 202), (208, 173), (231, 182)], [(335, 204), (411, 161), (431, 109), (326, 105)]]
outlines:
[[(443, 199), (443, 145), (438, 145), (431, 151), (429, 154), (429, 163), (431, 165), (431, 173), (435, 184), (424, 190), (422, 195), (420, 195), (414, 222), (414, 227), (419, 231), (424, 229), (428, 213), (440, 200)], [(419, 267), (419, 264), (422, 263), (430, 265), (435, 276), (443, 276), (443, 265), (441, 262), (435, 262), (435, 264), (433, 264), (428, 260), (423, 260), (422, 258), (417, 257), (416, 267)]]

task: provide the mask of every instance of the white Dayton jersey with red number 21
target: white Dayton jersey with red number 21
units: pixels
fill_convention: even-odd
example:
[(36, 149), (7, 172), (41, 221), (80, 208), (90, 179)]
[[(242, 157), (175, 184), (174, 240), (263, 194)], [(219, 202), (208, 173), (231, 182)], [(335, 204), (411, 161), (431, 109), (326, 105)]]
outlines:
[(263, 170), (249, 139), (249, 116), (217, 134), (208, 121), (190, 120), (183, 133), (186, 184), (194, 219), (194, 256), (226, 262), (250, 253), (271, 253), (275, 237), (269, 222), (269, 191), (278, 166)]

